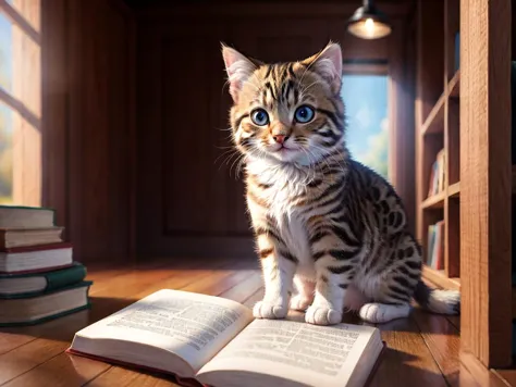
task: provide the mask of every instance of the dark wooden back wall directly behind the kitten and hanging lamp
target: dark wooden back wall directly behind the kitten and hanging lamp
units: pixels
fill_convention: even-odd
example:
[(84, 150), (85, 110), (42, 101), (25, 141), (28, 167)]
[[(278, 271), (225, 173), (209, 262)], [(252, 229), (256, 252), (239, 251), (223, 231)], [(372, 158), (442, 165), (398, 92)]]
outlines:
[[(230, 97), (220, 41), (265, 61), (297, 60), (333, 39), (344, 59), (389, 60), (396, 188), (414, 215), (414, 113), (405, 47), (407, 8), (386, 5), (395, 32), (346, 33), (356, 3), (262, 2), (139, 8), (137, 36), (137, 247), (140, 254), (250, 253), (242, 176), (224, 162)], [(405, 139), (405, 141), (403, 140)]]

